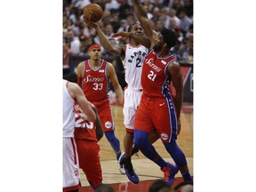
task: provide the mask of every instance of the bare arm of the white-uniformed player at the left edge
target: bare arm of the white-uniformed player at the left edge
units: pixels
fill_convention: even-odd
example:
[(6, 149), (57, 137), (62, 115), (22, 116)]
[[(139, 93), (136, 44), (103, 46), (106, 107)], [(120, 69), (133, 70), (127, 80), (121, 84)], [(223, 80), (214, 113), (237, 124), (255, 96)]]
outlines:
[(77, 104), (80, 106), (82, 109), (83, 113), (87, 116), (88, 121), (95, 121), (96, 116), (94, 111), (92, 110), (92, 107), (89, 103), (89, 101), (86, 99), (84, 96), (84, 92), (82, 89), (79, 87), (78, 84), (68, 82), (68, 92), (70, 96), (76, 100)]

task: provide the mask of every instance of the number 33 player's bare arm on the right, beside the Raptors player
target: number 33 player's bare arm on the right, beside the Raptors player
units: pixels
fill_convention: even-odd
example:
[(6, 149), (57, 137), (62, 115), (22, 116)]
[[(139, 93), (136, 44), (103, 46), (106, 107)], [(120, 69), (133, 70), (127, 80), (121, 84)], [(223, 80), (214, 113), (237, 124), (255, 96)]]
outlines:
[(116, 71), (114, 66), (111, 63), (108, 63), (108, 77), (110, 79), (111, 84), (113, 85), (113, 88), (116, 92), (117, 99), (120, 103), (123, 102), (123, 90), (121, 85), (118, 82)]

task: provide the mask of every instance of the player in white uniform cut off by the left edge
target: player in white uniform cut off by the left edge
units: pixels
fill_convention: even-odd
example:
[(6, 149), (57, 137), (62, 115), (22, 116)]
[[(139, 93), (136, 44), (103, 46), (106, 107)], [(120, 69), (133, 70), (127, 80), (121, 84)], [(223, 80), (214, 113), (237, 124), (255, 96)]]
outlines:
[(87, 121), (96, 119), (84, 92), (74, 83), (63, 79), (63, 192), (78, 192), (80, 186), (75, 128), (75, 101), (81, 106)]

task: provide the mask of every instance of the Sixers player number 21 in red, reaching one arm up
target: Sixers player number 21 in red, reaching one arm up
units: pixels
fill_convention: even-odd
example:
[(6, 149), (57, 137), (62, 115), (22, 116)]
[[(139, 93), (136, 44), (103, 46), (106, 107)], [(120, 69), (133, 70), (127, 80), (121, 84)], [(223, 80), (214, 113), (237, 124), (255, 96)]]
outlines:
[[(134, 122), (134, 144), (145, 156), (161, 167), (164, 180), (171, 186), (179, 170), (184, 180), (192, 180), (186, 157), (176, 143), (177, 135), (180, 133), (183, 84), (180, 64), (175, 60), (170, 49), (177, 43), (178, 37), (174, 31), (166, 28), (156, 33), (151, 28), (147, 13), (139, 1), (132, 0), (132, 5), (141, 27), (151, 42), (142, 68), (143, 94)], [(169, 91), (171, 82), (176, 91), (175, 107)], [(148, 142), (148, 134), (154, 127), (178, 167), (165, 162)]]

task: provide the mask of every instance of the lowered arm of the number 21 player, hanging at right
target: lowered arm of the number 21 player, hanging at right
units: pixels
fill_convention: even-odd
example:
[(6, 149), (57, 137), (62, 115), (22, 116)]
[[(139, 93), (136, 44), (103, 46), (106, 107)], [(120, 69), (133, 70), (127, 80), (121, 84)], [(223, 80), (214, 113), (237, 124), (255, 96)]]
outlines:
[(180, 134), (180, 111), (183, 103), (183, 81), (180, 70), (180, 64), (177, 61), (173, 61), (168, 66), (168, 73), (172, 76), (172, 84), (176, 91), (176, 112), (178, 118), (178, 134)]

